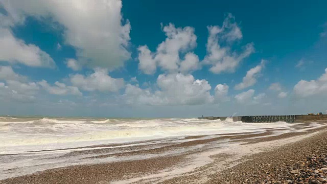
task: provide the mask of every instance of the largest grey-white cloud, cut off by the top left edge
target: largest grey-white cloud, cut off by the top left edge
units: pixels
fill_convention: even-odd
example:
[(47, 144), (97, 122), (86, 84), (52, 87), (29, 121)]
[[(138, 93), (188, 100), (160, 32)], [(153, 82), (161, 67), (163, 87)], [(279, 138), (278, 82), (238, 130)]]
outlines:
[[(78, 61), (91, 67), (120, 67), (130, 59), (126, 49), (131, 25), (125, 24), (120, 0), (0, 0), (8, 19), (24, 24), (27, 16), (51, 17), (64, 27), (65, 44), (76, 48)], [(9, 23), (7, 24), (9, 25)], [(83, 62), (83, 63), (84, 63)]]

